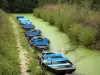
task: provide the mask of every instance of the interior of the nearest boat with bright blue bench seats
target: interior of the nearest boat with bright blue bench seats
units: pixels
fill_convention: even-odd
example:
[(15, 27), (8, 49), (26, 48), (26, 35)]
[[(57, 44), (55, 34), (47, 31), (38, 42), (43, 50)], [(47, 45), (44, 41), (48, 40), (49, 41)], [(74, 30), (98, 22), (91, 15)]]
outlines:
[(44, 54), (42, 56), (43, 62), (55, 69), (68, 69), (72, 67), (72, 63), (68, 60), (68, 58), (62, 57), (62, 54)]

